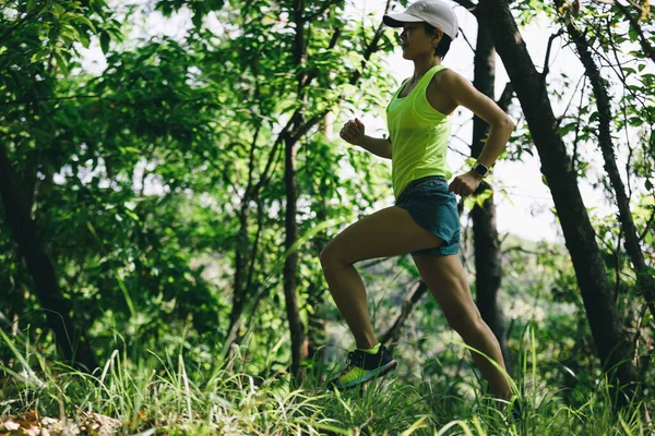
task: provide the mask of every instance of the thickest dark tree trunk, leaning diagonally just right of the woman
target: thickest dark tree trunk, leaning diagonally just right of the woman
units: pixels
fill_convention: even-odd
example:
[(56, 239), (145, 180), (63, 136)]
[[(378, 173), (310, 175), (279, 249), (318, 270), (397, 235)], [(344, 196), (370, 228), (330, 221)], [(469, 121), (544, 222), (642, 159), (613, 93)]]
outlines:
[[(598, 356), (605, 370), (616, 370), (609, 374), (611, 385), (622, 387), (622, 392), (631, 396), (636, 372), (630, 344), (614, 303), (575, 171), (558, 134), (558, 122), (544, 80), (535, 70), (507, 0), (481, 0), (477, 16), (478, 22), (484, 21), (488, 25), (539, 153), (541, 172), (555, 202)], [(626, 404), (623, 396), (617, 398), (619, 407)]]

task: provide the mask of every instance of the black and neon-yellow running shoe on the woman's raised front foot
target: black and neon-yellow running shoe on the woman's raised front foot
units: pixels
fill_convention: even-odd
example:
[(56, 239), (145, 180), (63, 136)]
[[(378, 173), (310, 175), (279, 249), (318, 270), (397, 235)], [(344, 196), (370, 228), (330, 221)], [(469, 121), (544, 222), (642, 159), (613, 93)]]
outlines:
[(344, 390), (354, 388), (374, 377), (381, 377), (395, 370), (397, 362), (393, 360), (386, 348), (380, 344), (377, 354), (361, 350), (350, 351), (346, 359), (346, 368), (343, 373), (330, 380), (327, 390)]

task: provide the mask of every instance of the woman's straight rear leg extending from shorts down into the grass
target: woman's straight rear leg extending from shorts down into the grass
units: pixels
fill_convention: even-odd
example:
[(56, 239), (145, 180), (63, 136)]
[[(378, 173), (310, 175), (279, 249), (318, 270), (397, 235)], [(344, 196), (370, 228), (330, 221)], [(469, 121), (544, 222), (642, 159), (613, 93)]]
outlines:
[[(460, 256), (416, 255), (413, 258), (449, 325), (467, 346), (481, 351), (504, 370), (500, 344), (473, 302)], [(485, 356), (472, 354), (496, 398), (509, 400), (512, 388), (508, 378)]]

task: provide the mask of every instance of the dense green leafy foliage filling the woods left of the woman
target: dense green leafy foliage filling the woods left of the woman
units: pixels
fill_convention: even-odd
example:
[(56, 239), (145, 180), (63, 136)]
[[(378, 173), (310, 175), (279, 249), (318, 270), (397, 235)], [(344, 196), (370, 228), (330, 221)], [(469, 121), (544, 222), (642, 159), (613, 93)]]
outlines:
[[(202, 17), (221, 3), (192, 9)], [(170, 15), (181, 4), (157, 8)], [(124, 17), (138, 15), (138, 8), (128, 10)], [(283, 255), (281, 129), (300, 108), (309, 122), (329, 110), (338, 114), (340, 102), (350, 110), (381, 106), (389, 93), (391, 83), (376, 82), (379, 57), (365, 70), (354, 50), (372, 31), (344, 20), (343, 4), (307, 11), (314, 16), (300, 63), (291, 56), (291, 12), (293, 2), (236, 2), (212, 12), (225, 23), (218, 29), (194, 17), (187, 39), (135, 46), (121, 45), (129, 22), (103, 2), (19, 2), (4, 12), (2, 28), (13, 29), (0, 33), (11, 43), (0, 52), (10, 72), (0, 83), (8, 92), (0, 107), (4, 141), (31, 193), (62, 296), (96, 353), (108, 355), (107, 340), (117, 331), (136, 350), (187, 325), (206, 341), (203, 348), (219, 349), (236, 251), (253, 246), (251, 294), (278, 283), (279, 270), (270, 266)], [(79, 61), (78, 41), (90, 47), (94, 35), (107, 61), (99, 75)], [(361, 92), (350, 84), (354, 74), (362, 77)], [(319, 123), (298, 140), (301, 234), (315, 228), (317, 213), (338, 217), (338, 225), (384, 192), (359, 183), (382, 185), (371, 157), (337, 147)], [(341, 173), (344, 165), (357, 175)], [(344, 195), (357, 197), (359, 208), (346, 207)], [(258, 218), (240, 230), (241, 213)], [(3, 245), (11, 247), (7, 230)], [(317, 247), (301, 250), (308, 255), (300, 279), (313, 282)], [(12, 250), (0, 256), (12, 295), (7, 317), (47, 331), (32, 278)], [(266, 310), (277, 318), (279, 306)]]

